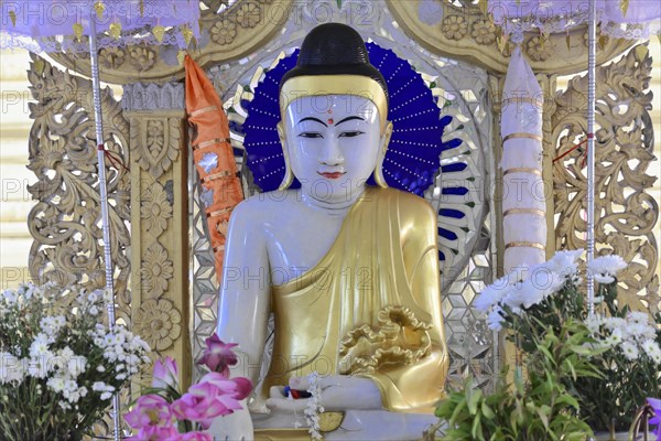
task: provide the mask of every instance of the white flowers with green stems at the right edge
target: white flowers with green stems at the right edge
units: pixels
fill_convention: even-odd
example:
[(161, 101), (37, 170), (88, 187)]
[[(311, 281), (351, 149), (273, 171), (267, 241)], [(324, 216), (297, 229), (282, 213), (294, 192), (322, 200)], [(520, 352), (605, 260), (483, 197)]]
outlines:
[(593, 363), (600, 377), (566, 379), (581, 404), (581, 417), (599, 431), (627, 430), (646, 397), (661, 396), (661, 316), (632, 312), (617, 298), (619, 256), (602, 256), (586, 266), (597, 286), (595, 314), (588, 316), (579, 271), (583, 251), (559, 251), (548, 262), (506, 276), (487, 287), (476, 301), (488, 313), (489, 326), (508, 330), (524, 354), (538, 351), (535, 336), (560, 332), (566, 321), (584, 323), (598, 354)]

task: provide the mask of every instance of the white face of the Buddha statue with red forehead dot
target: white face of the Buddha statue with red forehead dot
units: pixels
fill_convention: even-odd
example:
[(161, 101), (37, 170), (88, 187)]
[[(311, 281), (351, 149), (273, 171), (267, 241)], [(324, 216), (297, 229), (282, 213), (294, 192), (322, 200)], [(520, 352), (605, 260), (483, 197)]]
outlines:
[(376, 105), (353, 95), (299, 98), (282, 129), (294, 175), (318, 200), (342, 200), (364, 186), (384, 142)]

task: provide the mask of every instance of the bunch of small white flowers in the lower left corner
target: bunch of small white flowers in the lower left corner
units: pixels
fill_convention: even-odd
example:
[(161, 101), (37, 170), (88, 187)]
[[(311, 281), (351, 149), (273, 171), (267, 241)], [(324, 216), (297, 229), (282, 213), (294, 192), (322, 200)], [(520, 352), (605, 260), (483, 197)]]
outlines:
[(144, 341), (101, 323), (110, 299), (52, 284), (0, 295), (0, 439), (83, 439), (149, 362)]

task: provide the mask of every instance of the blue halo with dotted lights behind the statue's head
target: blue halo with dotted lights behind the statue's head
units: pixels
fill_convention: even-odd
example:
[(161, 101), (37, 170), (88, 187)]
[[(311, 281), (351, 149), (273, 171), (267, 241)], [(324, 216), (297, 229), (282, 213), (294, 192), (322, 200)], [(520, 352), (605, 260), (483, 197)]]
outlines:
[[(441, 117), (432, 90), (408, 61), (376, 43), (366, 45), (370, 63), (381, 72), (390, 93), (388, 120), (392, 121), (393, 132), (383, 161), (383, 176), (389, 186), (423, 196), (434, 183), (441, 153), (459, 147), (462, 140), (442, 140), (452, 117)], [(241, 101), (248, 111), (241, 128), (247, 164), (254, 183), (264, 192), (277, 190), (284, 178), (284, 158), (277, 130), (279, 88), (280, 79), (296, 65), (297, 56), (296, 50), (282, 58), (266, 73), (254, 89), (253, 99)], [(373, 179), (370, 178), (368, 183), (373, 185)], [(291, 187), (300, 185), (294, 180)]]

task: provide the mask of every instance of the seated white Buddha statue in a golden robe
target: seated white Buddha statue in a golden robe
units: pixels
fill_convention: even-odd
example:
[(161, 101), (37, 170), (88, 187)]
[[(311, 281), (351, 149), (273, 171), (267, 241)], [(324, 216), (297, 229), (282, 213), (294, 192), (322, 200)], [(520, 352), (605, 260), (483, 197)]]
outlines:
[(312, 373), (321, 405), (339, 416), (325, 439), (420, 439), (435, 421), (448, 365), (436, 213), (386, 184), (388, 100), (354, 29), (310, 32), (280, 84), (284, 181), (234, 211), (220, 288), (217, 332), (241, 359), (232, 375), (258, 384), (273, 313), (271, 363), (252, 418), (238, 411), (212, 433), (310, 440), (311, 398), (285, 387), (307, 389)]

